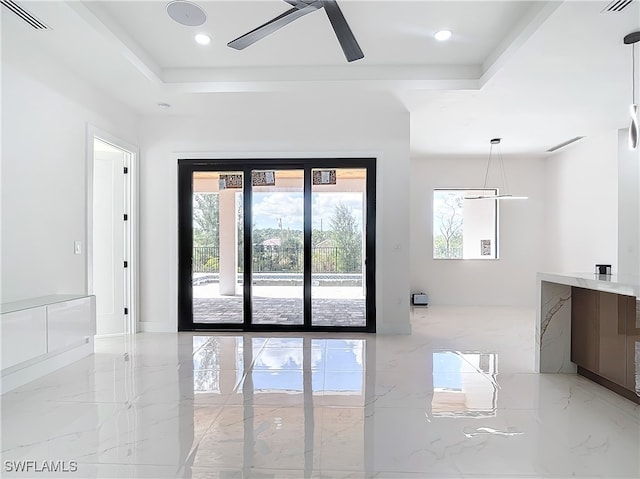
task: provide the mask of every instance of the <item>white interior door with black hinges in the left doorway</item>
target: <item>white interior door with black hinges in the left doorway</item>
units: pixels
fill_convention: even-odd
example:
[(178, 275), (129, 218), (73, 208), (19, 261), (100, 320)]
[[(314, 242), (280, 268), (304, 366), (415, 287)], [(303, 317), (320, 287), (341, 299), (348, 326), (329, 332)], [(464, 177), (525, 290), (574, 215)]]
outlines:
[(125, 155), (98, 139), (93, 163), (93, 293), (96, 334), (120, 334), (125, 325)]

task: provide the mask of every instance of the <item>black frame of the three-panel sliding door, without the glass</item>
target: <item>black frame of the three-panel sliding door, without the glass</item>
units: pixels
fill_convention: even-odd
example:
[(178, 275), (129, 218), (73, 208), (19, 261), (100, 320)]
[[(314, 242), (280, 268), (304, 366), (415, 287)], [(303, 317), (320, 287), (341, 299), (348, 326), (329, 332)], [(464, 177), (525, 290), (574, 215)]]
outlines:
[[(314, 326), (312, 324), (312, 170), (362, 168), (366, 178), (365, 236), (365, 318), (364, 326)], [(252, 170), (304, 171), (304, 323), (299, 325), (254, 324), (251, 321), (252, 249)], [(243, 314), (242, 323), (193, 322), (193, 174), (195, 172), (243, 173)], [(339, 331), (375, 332), (375, 228), (376, 228), (376, 160), (375, 158), (305, 158), (305, 159), (179, 159), (178, 160), (178, 331), (242, 330), (242, 331)]]

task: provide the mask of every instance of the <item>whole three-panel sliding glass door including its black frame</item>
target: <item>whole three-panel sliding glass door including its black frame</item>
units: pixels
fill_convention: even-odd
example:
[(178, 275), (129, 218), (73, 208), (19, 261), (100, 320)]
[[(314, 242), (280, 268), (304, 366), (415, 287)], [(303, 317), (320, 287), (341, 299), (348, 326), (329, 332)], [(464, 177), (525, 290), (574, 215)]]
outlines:
[(179, 160), (180, 330), (375, 331), (375, 160)]

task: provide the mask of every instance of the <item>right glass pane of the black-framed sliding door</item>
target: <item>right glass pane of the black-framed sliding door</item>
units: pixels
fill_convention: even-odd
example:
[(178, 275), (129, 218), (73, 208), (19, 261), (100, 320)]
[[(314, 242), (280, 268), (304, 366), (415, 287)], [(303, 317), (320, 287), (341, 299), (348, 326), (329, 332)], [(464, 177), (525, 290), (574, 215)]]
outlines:
[(311, 324), (366, 326), (367, 170), (312, 170)]

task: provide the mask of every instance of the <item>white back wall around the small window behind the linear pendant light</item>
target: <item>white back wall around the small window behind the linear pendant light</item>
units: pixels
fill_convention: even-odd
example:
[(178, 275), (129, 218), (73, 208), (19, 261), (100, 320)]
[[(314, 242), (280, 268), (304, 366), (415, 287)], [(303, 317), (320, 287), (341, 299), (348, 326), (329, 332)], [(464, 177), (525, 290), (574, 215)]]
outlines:
[(426, 292), (431, 304), (535, 304), (544, 255), (544, 160), (504, 161), (510, 192), (529, 199), (500, 202), (500, 259), (434, 260), (433, 189), (481, 188), (486, 158), (411, 160), (411, 289)]

